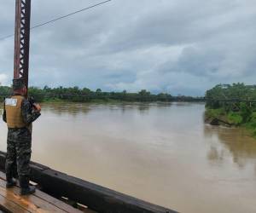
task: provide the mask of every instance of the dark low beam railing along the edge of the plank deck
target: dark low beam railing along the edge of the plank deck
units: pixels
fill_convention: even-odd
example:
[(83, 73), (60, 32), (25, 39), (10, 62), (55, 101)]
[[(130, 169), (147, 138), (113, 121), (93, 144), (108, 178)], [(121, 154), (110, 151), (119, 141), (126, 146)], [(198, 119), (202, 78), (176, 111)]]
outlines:
[[(4, 171), (5, 158), (6, 153), (0, 152), (0, 170), (2, 171)], [(65, 197), (99, 213), (177, 213), (177, 211), (150, 204), (89, 181), (51, 170), (42, 164), (32, 162), (30, 166), (32, 170), (31, 180), (38, 183), (42, 191), (57, 199)], [(86, 168), (80, 169), (86, 170)]]

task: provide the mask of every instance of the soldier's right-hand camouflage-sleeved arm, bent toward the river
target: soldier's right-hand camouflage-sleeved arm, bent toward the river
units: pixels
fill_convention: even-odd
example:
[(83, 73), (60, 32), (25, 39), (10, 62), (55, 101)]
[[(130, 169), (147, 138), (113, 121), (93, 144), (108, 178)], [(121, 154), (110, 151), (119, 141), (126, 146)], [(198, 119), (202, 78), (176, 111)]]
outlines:
[(32, 106), (30, 102), (27, 100), (22, 101), (21, 112), (22, 112), (23, 121), (26, 124), (31, 124), (36, 119), (38, 119), (38, 117), (41, 115), (41, 113), (38, 111), (34, 111), (34, 112), (32, 111)]

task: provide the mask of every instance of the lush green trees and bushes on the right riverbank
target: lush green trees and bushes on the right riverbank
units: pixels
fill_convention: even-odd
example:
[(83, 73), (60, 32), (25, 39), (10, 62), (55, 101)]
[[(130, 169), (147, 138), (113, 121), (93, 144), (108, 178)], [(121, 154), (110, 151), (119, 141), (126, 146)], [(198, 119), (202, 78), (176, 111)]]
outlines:
[(241, 126), (256, 136), (256, 86), (218, 84), (206, 93), (206, 120)]

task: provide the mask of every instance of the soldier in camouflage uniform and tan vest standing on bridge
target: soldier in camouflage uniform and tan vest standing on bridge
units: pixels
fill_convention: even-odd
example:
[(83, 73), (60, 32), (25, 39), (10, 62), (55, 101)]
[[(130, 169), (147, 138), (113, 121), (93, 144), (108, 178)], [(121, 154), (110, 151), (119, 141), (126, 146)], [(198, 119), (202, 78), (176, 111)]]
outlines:
[(6, 187), (16, 185), (14, 177), (19, 176), (20, 194), (35, 192), (35, 187), (29, 186), (32, 147), (32, 122), (41, 114), (38, 104), (31, 104), (25, 97), (26, 86), (22, 79), (14, 79), (14, 95), (4, 101), (3, 121), (8, 125), (7, 157), (6, 157)]

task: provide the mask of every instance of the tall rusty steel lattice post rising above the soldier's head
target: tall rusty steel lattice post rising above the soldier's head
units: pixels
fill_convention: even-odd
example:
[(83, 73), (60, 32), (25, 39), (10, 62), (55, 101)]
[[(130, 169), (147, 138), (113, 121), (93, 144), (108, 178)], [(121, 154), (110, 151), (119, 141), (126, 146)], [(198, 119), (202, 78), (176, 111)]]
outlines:
[(15, 72), (28, 87), (31, 0), (16, 0), (15, 13)]

